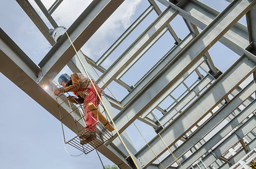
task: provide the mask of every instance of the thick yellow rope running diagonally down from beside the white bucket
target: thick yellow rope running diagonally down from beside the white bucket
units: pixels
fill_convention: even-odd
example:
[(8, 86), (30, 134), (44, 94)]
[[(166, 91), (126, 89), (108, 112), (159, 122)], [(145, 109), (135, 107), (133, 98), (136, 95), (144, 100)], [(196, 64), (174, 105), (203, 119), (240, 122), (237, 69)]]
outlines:
[[(69, 38), (69, 35), (68, 35), (67, 32), (66, 32), (66, 34), (67, 34), (67, 37)], [(72, 43), (72, 41), (71, 41), (70, 38), (69, 38), (69, 41), (70, 41), (70, 43), (72, 44), (74, 50), (76, 51), (77, 57), (78, 57), (79, 61), (81, 62), (82, 66), (83, 66), (83, 68), (84, 68), (84, 70), (85, 70), (85, 73), (87, 74), (87, 77), (90, 79), (90, 81), (91, 81), (91, 83), (92, 83), (92, 79), (90, 78), (90, 76), (89, 76), (89, 74), (88, 74), (86, 68), (84, 67), (84, 64), (82, 63), (82, 61), (81, 61), (81, 59), (80, 59), (80, 57), (79, 57), (79, 55), (78, 55), (78, 53), (77, 53), (77, 50), (76, 50), (76, 48), (74, 47), (74, 45), (73, 45), (73, 43)], [(97, 93), (97, 96), (100, 98), (100, 101), (102, 102), (102, 105), (104, 106), (105, 110), (106, 110), (107, 113), (108, 113), (108, 110), (107, 110), (105, 104), (103, 103), (103, 101), (102, 101), (102, 99), (101, 99), (99, 93), (97, 92), (97, 89), (96, 89), (96, 87), (94, 86), (93, 83), (92, 83), (92, 86), (93, 86), (93, 88), (95, 89), (95, 92)], [(111, 116), (110, 116), (109, 113), (108, 113), (108, 116), (110, 117), (110, 119), (111, 119), (111, 121), (112, 121), (112, 123), (113, 123), (113, 125), (114, 125), (114, 127), (115, 127), (115, 131), (117, 132), (118, 137), (120, 138), (121, 142), (123, 143), (123, 146), (124, 146), (125, 149), (127, 150), (128, 154), (131, 156), (131, 159), (133, 160), (133, 162), (134, 162), (134, 164), (136, 165), (137, 169), (139, 169), (138, 166), (137, 166), (137, 164), (136, 164), (136, 162), (135, 162), (135, 160), (133, 159), (133, 156), (131, 155), (130, 151), (128, 150), (128, 148), (126, 147), (125, 143), (123, 142), (123, 139), (121, 138), (121, 136), (120, 136), (120, 134), (119, 134), (119, 132), (118, 132), (116, 126), (115, 126), (115, 123), (114, 123), (114, 121), (113, 121), (113, 119), (111, 118)]]

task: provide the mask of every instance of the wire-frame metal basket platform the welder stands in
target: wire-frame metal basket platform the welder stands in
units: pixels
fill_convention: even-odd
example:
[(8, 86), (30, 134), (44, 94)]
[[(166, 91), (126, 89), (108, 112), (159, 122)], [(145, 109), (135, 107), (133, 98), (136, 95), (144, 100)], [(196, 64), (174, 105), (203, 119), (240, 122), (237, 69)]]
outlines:
[[(62, 104), (67, 104), (69, 105), (69, 108), (70, 108), (69, 113), (64, 116), (61, 116), (59, 112), (63, 136), (64, 136), (64, 142), (65, 144), (69, 144), (70, 146), (78, 149), (79, 151), (82, 151), (84, 154), (88, 154), (92, 150), (96, 149), (98, 146), (104, 144), (106, 141), (108, 141), (113, 137), (113, 133), (112, 133), (113, 130), (110, 130), (111, 124), (108, 123), (108, 116), (101, 103), (99, 103), (97, 108), (96, 106), (93, 105), (93, 108), (90, 107), (91, 112), (90, 111), (87, 112), (87, 111), (84, 111), (84, 108), (83, 108), (84, 104), (71, 103), (67, 100), (67, 96), (71, 96), (71, 95), (69, 95), (69, 93), (62, 93), (61, 95), (56, 97), (58, 107)], [(85, 104), (88, 106), (91, 103), (92, 102), (85, 103)], [(85, 129), (85, 126), (86, 126), (85, 116), (84, 116), (85, 114), (90, 115), (91, 117), (93, 116), (91, 114), (94, 114), (94, 116), (97, 117), (97, 120), (95, 120), (95, 124), (90, 126), (90, 128), (88, 129)], [(77, 136), (73, 137), (72, 139), (66, 139), (65, 132), (63, 129), (63, 124), (62, 124), (62, 121), (64, 121), (68, 115), (73, 116), (74, 125), (77, 128)], [(103, 116), (107, 121), (105, 125), (103, 125), (99, 121), (99, 119), (102, 118)], [(94, 132), (92, 131), (94, 130), (93, 128), (96, 128)], [(69, 140), (69, 141), (66, 141), (66, 140)]]

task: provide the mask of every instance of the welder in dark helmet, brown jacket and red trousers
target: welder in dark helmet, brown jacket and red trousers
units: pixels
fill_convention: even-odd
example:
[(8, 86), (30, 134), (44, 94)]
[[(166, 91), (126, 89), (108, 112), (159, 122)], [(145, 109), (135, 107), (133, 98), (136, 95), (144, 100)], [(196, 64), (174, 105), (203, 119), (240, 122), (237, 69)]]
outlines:
[(82, 73), (74, 73), (70, 76), (67, 73), (61, 74), (58, 78), (58, 82), (61, 88), (56, 88), (53, 92), (54, 95), (58, 96), (60, 93), (64, 92), (73, 92), (78, 98), (68, 96), (67, 99), (75, 104), (82, 104), (84, 108), (84, 118), (85, 118), (85, 134), (79, 136), (80, 144), (87, 144), (93, 138), (96, 137), (96, 122), (97, 117), (90, 111), (86, 106), (88, 103), (93, 103), (97, 108), (100, 104), (100, 98), (97, 96), (94, 86), (101, 97), (101, 89), (92, 80), (92, 83), (89, 78), (85, 77)]

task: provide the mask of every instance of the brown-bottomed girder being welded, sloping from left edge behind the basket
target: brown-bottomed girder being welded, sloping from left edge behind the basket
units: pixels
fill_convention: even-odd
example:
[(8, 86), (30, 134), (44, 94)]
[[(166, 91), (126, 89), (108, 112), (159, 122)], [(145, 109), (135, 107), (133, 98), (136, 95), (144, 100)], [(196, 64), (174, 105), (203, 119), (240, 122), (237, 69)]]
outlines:
[[(33, 98), (38, 104), (43, 106), (49, 113), (51, 113), (56, 119), (59, 119), (59, 113), (57, 110), (57, 104), (55, 97), (49, 94), (37, 83), (37, 72), (39, 71), (33, 61), (16, 45), (13, 40), (6, 35), (6, 33), (0, 29), (0, 72), (10, 79), (21, 90)], [(10, 71), (10, 67), (12, 71)], [(17, 74), (17, 72), (19, 72)], [(53, 85), (50, 83), (50, 85)], [(35, 92), (36, 91), (36, 92)], [(52, 91), (50, 91), (51, 93)], [(64, 100), (64, 99), (63, 99)], [(65, 116), (69, 113), (70, 107), (67, 104), (61, 104), (60, 113), (61, 116)], [(72, 115), (67, 116), (62, 121), (65, 126), (77, 134), (77, 128), (74, 125), (74, 118)], [(83, 127), (82, 124), (78, 124), (78, 127)], [(113, 146), (108, 145), (97, 148), (100, 153), (107, 156), (108, 159), (113, 161), (118, 166), (122, 166), (125, 169), (131, 169), (127, 161), (126, 156), (120, 154)]]

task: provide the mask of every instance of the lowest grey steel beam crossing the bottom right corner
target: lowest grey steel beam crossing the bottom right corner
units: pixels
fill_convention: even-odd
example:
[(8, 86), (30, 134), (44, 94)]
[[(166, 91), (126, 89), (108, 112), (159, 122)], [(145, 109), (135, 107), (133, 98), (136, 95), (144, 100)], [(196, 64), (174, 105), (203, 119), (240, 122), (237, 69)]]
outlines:
[(246, 151), (245, 149), (241, 149), (240, 151), (238, 151), (238, 153), (228, 159), (228, 161), (231, 162), (231, 165), (224, 163), (218, 169), (229, 169), (233, 164), (236, 164), (240, 159), (246, 156), (246, 154), (250, 153), (256, 147), (256, 139), (253, 139), (246, 146), (248, 148), (248, 151)]

